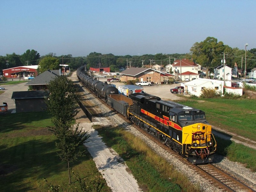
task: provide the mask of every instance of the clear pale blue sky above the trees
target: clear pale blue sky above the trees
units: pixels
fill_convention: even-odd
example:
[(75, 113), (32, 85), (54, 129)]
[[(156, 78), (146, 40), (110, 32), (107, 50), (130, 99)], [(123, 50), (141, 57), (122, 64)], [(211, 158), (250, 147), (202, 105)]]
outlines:
[(1, 0), (0, 55), (188, 53), (211, 36), (256, 48), (254, 0)]

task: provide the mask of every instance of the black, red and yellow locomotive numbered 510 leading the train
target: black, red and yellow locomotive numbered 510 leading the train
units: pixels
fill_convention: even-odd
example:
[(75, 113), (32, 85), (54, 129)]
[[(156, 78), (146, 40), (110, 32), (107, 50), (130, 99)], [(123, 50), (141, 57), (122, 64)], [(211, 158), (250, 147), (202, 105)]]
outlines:
[(216, 141), (202, 110), (145, 93), (133, 93), (130, 98), (133, 106), (127, 114), (135, 124), (192, 163), (212, 162)]

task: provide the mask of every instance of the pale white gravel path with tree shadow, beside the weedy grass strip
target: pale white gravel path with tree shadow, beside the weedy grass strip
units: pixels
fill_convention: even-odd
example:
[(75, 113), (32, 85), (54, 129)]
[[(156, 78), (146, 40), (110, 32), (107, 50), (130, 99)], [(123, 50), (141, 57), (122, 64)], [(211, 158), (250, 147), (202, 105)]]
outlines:
[(113, 192), (124, 192), (124, 191), (141, 191), (137, 181), (134, 179), (132, 174), (127, 172), (128, 167), (124, 160), (118, 156), (118, 154), (112, 149), (108, 148), (101, 137), (98, 136), (98, 132), (92, 128), (93, 124), (108, 125), (109, 122), (98, 122), (98, 123), (82, 123), (80, 128), (84, 131), (88, 131), (90, 137), (84, 145), (87, 147), (89, 153), (93, 157), (93, 161), (96, 164), (99, 172), (103, 178), (107, 181), (108, 187)]

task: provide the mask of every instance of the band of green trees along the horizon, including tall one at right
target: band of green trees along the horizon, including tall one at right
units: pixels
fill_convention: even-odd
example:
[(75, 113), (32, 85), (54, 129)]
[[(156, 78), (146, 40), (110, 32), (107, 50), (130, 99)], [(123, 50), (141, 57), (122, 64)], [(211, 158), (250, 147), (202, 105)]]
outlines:
[[(102, 54), (91, 52), (84, 57), (72, 57), (71, 54), (56, 56), (55, 53), (49, 53), (40, 56), (35, 50), (27, 50), (22, 55), (15, 53), (0, 56), (0, 71), (5, 68), (12, 68), (24, 65), (40, 65), (44, 66), (43, 70), (59, 69), (61, 64), (67, 64), (71, 69), (77, 69), (82, 65), (87, 65), (87, 68), (110, 67), (111, 71), (119, 71), (119, 68), (128, 67), (142, 67), (142, 65), (158, 64), (165, 67), (169, 63), (173, 63), (177, 59), (192, 59), (202, 67), (208, 68), (213, 71), (214, 67), (221, 65), (225, 54), (226, 65), (234, 68), (235, 63), (238, 69), (245, 69), (245, 49), (241, 50), (237, 47), (231, 48), (223, 44), (214, 37), (207, 37), (204, 41), (196, 42), (190, 48), (189, 53), (183, 54), (144, 54), (144, 55), (124, 55), (115, 56), (112, 53)], [(49, 57), (51, 59), (49, 59)], [(256, 48), (252, 48), (246, 52), (246, 71), (250, 72), (251, 69), (256, 67)], [(8, 60), (8, 65), (6, 61)], [(54, 63), (54, 64), (52, 64)], [(41, 71), (44, 72), (44, 71)]]

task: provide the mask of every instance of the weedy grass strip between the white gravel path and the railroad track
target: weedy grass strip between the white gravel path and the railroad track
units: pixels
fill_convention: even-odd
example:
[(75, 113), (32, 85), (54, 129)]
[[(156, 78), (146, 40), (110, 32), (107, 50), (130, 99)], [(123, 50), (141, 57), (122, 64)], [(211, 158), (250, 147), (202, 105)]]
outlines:
[(148, 191), (199, 191), (188, 178), (156, 155), (139, 138), (122, 128), (93, 126), (107, 146), (113, 148), (129, 167), (142, 188)]

